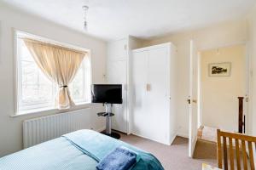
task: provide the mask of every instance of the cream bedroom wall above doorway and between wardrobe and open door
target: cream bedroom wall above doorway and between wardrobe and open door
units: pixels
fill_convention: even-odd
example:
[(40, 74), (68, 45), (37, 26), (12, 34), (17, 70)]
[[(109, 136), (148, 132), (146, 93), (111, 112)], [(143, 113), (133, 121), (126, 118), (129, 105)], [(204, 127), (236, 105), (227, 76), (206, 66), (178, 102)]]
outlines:
[(143, 46), (161, 42), (173, 42), (177, 46), (177, 123), (178, 134), (189, 134), (189, 40), (194, 39), (199, 50), (218, 48), (247, 40), (247, 20), (226, 22), (197, 31), (187, 31), (175, 35), (145, 41)]

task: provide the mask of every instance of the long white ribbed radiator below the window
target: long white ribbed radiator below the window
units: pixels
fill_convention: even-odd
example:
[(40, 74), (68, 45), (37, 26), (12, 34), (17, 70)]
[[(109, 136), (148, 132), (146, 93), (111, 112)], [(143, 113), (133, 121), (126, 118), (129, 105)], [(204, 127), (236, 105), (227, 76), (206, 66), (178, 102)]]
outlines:
[(23, 122), (23, 147), (84, 128), (90, 128), (90, 108), (26, 120)]

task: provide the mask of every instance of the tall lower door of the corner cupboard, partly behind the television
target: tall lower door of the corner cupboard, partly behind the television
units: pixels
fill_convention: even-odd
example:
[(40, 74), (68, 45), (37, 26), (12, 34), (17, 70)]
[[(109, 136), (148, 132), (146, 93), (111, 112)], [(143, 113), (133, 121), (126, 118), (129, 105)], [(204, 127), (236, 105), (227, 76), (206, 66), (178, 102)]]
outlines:
[(112, 128), (123, 133), (127, 133), (128, 119), (127, 119), (127, 61), (111, 61), (108, 63), (108, 83), (110, 84), (122, 84), (122, 97), (123, 104), (114, 104), (112, 111), (114, 116), (112, 117)]

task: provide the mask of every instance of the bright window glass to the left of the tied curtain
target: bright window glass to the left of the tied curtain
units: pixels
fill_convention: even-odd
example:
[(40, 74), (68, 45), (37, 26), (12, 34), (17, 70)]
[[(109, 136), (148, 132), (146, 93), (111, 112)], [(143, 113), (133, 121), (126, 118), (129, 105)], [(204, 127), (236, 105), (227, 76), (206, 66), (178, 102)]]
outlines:
[(54, 104), (52, 82), (39, 70), (25, 43), (18, 39), (20, 57), (20, 103), (21, 111), (49, 107)]

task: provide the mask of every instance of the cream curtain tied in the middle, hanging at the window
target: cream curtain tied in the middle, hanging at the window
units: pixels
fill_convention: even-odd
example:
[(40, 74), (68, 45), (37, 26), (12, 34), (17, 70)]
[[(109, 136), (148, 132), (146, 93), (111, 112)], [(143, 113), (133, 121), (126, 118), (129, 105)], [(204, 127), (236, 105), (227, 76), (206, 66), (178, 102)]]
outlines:
[(74, 103), (68, 84), (73, 81), (87, 53), (32, 39), (23, 40), (44, 75), (58, 85), (55, 98), (57, 108), (62, 110), (72, 107)]

